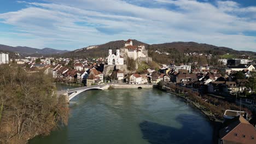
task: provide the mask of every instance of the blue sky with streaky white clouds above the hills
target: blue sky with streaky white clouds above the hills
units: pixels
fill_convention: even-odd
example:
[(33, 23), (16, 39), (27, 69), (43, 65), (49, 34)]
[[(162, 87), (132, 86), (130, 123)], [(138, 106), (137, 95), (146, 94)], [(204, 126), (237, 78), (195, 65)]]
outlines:
[(113, 40), (256, 51), (254, 0), (1, 0), (0, 44), (75, 50)]

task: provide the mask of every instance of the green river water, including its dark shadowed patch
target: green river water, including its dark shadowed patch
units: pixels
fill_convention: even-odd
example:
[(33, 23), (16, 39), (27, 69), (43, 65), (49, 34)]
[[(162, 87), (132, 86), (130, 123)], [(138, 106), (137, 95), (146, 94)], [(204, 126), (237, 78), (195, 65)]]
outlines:
[[(71, 88), (58, 86), (58, 89)], [(212, 143), (208, 119), (183, 99), (158, 89), (91, 90), (70, 101), (68, 125), (41, 143)]]

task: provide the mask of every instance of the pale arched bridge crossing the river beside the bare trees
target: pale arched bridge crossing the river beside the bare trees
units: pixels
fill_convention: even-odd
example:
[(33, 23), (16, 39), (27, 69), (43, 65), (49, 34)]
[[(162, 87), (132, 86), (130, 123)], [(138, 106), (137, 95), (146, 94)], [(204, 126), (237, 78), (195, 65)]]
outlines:
[(96, 85), (96, 86), (90, 86), (90, 87), (79, 87), (79, 88), (72, 88), (72, 89), (67, 89), (64, 91), (59, 91), (57, 92), (57, 95), (68, 95), (68, 100), (73, 99), (75, 96), (77, 96), (78, 94), (84, 92), (84, 91), (88, 91), (90, 89), (101, 89), (103, 90), (106, 85)]

